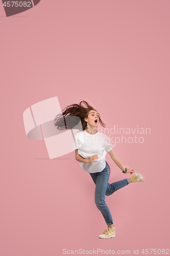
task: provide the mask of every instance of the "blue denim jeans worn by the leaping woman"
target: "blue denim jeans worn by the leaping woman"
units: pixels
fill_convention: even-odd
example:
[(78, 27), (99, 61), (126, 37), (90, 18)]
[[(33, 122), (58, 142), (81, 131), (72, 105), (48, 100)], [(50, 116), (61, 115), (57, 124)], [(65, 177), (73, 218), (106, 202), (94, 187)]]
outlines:
[(106, 167), (102, 170), (102, 172), (99, 173), (90, 173), (91, 178), (93, 179), (95, 183), (95, 204), (98, 207), (98, 209), (101, 211), (106, 224), (112, 225), (113, 219), (109, 210), (109, 207), (107, 206), (105, 202), (105, 195), (110, 196), (112, 195), (116, 190), (127, 186), (130, 181), (129, 179), (124, 179), (120, 181), (116, 181), (113, 183), (108, 183), (109, 176), (110, 176), (110, 166), (106, 162)]

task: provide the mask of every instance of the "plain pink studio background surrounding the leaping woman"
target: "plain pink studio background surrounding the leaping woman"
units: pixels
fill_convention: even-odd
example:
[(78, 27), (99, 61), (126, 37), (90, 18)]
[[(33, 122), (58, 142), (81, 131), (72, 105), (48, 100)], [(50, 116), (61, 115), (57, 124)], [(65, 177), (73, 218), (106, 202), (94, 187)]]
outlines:
[[(1, 255), (168, 248), (169, 7), (157, 0), (41, 0), (7, 18), (0, 4)], [(143, 143), (114, 147), (123, 165), (145, 178), (106, 197), (114, 239), (98, 238), (107, 225), (75, 152), (50, 160), (44, 141), (26, 136), (23, 112), (55, 96), (61, 109), (86, 100), (108, 129), (151, 128)], [(108, 154), (106, 161), (110, 183), (130, 177)]]

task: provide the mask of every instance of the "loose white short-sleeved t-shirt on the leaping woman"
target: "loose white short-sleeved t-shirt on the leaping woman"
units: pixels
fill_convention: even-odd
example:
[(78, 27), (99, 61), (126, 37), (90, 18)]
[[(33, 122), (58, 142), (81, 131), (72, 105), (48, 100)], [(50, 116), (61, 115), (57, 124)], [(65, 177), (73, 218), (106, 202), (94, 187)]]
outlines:
[(87, 173), (98, 173), (102, 172), (102, 170), (106, 167), (106, 152), (112, 150), (113, 145), (110, 142), (110, 138), (98, 132), (96, 134), (89, 134), (84, 131), (79, 131), (75, 134), (75, 140), (72, 144), (72, 148), (74, 150), (78, 149), (78, 153), (80, 156), (89, 159), (93, 155), (98, 155), (98, 159), (94, 159), (92, 163), (81, 163), (79, 162), (80, 166), (87, 172)]

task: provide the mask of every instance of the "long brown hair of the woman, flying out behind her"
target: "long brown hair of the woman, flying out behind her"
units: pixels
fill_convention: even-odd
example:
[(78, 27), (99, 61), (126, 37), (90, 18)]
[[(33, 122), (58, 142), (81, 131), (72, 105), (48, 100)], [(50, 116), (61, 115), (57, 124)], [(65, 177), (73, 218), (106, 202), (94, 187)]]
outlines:
[[(83, 103), (86, 105), (86, 108), (82, 106)], [(68, 105), (55, 117), (54, 125), (57, 126), (58, 130), (73, 128), (82, 130), (83, 127), (84, 131), (87, 128), (87, 122), (84, 120), (84, 118), (88, 118), (90, 110), (94, 110), (94, 108), (91, 105), (89, 105), (88, 102), (86, 102), (85, 100), (80, 101), (79, 104)], [(80, 121), (82, 126), (78, 125)], [(102, 122), (100, 115), (99, 122), (103, 127), (106, 127), (105, 123)]]

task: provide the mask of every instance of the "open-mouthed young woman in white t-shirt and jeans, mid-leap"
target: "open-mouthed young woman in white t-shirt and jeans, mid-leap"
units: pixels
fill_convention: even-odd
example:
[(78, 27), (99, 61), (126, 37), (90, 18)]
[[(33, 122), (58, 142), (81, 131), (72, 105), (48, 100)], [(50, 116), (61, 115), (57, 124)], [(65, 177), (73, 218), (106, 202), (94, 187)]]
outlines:
[[(82, 106), (82, 103), (86, 105), (86, 108)], [(96, 130), (99, 122), (103, 127), (106, 127), (106, 125), (102, 122), (100, 114), (94, 110), (92, 106), (83, 100), (80, 101), (79, 104), (67, 106), (66, 110), (64, 110), (61, 116), (55, 118), (55, 126), (58, 126), (58, 130), (65, 128), (71, 129), (71, 126), (74, 127), (75, 124), (71, 122), (69, 122), (69, 125), (68, 122), (63, 124), (63, 117), (64, 119), (68, 116), (78, 116), (80, 118), (83, 130), (75, 134), (72, 147), (75, 150), (76, 160), (79, 161), (80, 166), (90, 174), (95, 183), (95, 204), (101, 211), (108, 226), (107, 229), (99, 235), (99, 238), (114, 238), (115, 227), (113, 226), (110, 210), (105, 202), (105, 196), (112, 195), (115, 191), (130, 183), (144, 182), (144, 179), (139, 173), (134, 173), (134, 169), (124, 167), (118, 156), (112, 150), (115, 145), (110, 142), (110, 138)], [(112, 160), (123, 173), (134, 174), (130, 178), (111, 184), (108, 183), (110, 167), (105, 160), (106, 152), (108, 152)]]

